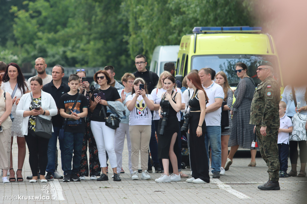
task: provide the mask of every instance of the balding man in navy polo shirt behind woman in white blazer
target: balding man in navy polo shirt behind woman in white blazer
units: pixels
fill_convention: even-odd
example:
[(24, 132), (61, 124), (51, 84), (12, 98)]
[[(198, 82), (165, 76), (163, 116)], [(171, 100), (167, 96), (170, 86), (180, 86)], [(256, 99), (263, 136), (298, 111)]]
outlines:
[[(58, 107), (60, 97), (64, 94), (69, 92), (70, 88), (67, 84), (62, 81), (64, 77), (64, 68), (61, 65), (56, 65), (52, 68), (52, 80), (50, 83), (44, 85), (43, 91), (50, 93), (53, 99), (56, 102), (56, 107)], [(52, 181), (54, 178), (56, 179), (63, 179), (63, 176), (59, 174), (57, 169), (57, 155), (58, 151), (56, 148), (57, 138), (59, 136), (59, 130), (63, 125), (63, 118), (60, 115), (60, 110), (58, 108), (58, 114), (52, 116), (52, 126), (53, 126), (53, 133), (52, 137), (49, 139), (48, 144), (48, 163), (46, 168), (46, 179)], [(60, 150), (62, 146), (62, 141), (59, 140), (60, 143)], [(62, 151), (62, 150), (61, 150)], [(55, 175), (56, 172), (56, 175)]]

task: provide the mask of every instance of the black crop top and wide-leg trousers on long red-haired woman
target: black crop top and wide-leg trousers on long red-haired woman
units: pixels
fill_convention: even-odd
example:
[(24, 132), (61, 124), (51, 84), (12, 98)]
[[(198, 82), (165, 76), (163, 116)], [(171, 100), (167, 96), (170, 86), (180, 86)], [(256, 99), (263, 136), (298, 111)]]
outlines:
[[(200, 110), (200, 104), (197, 96), (192, 97), (188, 104), (191, 106), (190, 110)], [(194, 177), (194, 179), (200, 178), (203, 181), (209, 183), (209, 166), (207, 149), (205, 145), (206, 122), (204, 121), (202, 125), (202, 135), (197, 137), (196, 129), (200, 120), (200, 112), (190, 112), (190, 115), (190, 162), (192, 177)]]

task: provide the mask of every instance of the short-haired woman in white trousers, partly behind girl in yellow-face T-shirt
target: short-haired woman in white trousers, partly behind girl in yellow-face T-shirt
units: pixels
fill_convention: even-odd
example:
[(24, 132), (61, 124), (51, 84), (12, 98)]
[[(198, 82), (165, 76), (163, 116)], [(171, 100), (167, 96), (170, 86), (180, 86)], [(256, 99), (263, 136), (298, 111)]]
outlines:
[[(118, 93), (121, 95), (122, 103), (126, 104), (126, 99), (132, 93), (133, 89), (133, 81), (135, 77), (131, 73), (125, 73), (122, 76), (122, 84), (124, 85), (124, 89), (118, 90)], [(127, 148), (128, 148), (128, 168), (130, 174), (133, 173), (132, 171), (132, 164), (131, 164), (131, 141), (130, 141), (130, 134), (129, 134), (129, 115), (130, 111), (128, 110), (127, 106), (125, 105), (126, 109), (126, 119), (122, 119), (119, 123), (119, 127), (115, 130), (115, 154), (117, 159), (117, 174), (122, 171), (122, 151), (124, 149), (125, 143), (125, 136), (127, 138)]]

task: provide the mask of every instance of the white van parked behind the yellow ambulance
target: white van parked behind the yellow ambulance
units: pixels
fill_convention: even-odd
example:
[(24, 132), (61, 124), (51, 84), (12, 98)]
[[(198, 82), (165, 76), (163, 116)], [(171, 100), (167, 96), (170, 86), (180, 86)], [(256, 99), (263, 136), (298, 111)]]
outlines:
[(150, 71), (156, 73), (158, 76), (164, 71), (164, 64), (166, 62), (177, 62), (179, 52), (179, 45), (165, 45), (157, 46), (153, 50), (153, 56), (150, 62)]

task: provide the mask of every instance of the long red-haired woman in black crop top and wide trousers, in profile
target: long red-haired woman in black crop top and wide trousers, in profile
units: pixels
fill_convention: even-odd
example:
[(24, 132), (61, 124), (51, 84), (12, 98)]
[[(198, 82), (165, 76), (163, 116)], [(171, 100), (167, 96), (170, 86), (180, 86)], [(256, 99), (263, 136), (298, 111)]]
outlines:
[(200, 77), (197, 72), (190, 72), (187, 75), (187, 84), (194, 90), (192, 98), (189, 100), (190, 106), (190, 163), (192, 168), (192, 178), (187, 179), (188, 183), (209, 183), (209, 166), (207, 149), (205, 145), (206, 132), (206, 104), (208, 97), (204, 91)]

